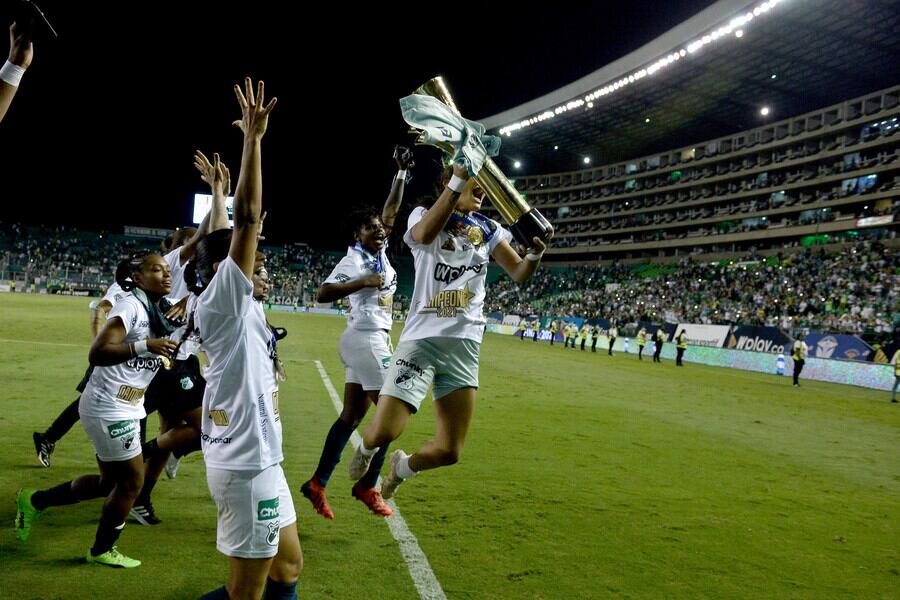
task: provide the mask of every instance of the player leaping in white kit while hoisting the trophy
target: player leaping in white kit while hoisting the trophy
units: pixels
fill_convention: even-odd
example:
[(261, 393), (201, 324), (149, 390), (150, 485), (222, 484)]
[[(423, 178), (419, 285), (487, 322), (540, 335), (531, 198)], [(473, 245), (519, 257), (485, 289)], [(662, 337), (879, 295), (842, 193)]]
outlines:
[(416, 281), (406, 327), (385, 376), (375, 417), (364, 445), (350, 464), (350, 476), (362, 477), (378, 453), (403, 432), (410, 415), (434, 384), (435, 436), (418, 452), (391, 455), (381, 493), (390, 498), (404, 480), (420, 471), (459, 460), (475, 409), (478, 358), (485, 319), (484, 284), (493, 256), (516, 283), (535, 272), (546, 245), (534, 238), (525, 259), (509, 244), (511, 235), (496, 221), (475, 212), (484, 191), (453, 167), (453, 177), (431, 208), (409, 217), (403, 240), (412, 248)]

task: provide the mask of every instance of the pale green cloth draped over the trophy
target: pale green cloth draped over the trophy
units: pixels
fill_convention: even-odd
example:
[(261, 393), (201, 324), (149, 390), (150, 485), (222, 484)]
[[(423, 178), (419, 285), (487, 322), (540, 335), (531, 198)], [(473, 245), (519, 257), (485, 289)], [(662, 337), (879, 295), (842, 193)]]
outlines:
[(470, 177), (478, 175), (489, 156), (500, 152), (499, 136), (485, 135), (484, 125), (462, 118), (437, 98), (412, 94), (400, 99), (400, 111), (407, 123), (422, 131), (424, 143), (453, 146), (453, 163), (468, 170)]

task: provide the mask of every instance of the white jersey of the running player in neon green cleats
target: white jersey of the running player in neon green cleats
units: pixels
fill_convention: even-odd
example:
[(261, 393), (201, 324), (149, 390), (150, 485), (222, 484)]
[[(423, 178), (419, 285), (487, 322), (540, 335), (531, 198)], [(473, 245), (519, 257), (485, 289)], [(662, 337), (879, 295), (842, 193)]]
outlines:
[[(143, 304), (127, 294), (109, 312), (107, 320), (118, 317), (125, 327), (126, 344), (152, 338), (150, 316)], [(145, 353), (109, 367), (94, 367), (91, 379), (81, 394), (78, 412), (104, 419), (142, 419), (144, 392), (162, 366), (160, 358)]]

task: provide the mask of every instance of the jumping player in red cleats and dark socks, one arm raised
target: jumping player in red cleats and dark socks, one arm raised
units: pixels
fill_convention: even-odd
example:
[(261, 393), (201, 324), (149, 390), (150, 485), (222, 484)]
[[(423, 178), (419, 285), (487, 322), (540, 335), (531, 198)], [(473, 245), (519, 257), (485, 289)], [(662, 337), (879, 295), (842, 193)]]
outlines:
[[(341, 460), (350, 434), (362, 421), (369, 406), (378, 402), (378, 391), (384, 384), (384, 374), (394, 351), (391, 344), (391, 309), (397, 290), (397, 273), (385, 250), (386, 240), (403, 200), (406, 171), (412, 163), (412, 153), (398, 148), (394, 151), (394, 160), (398, 172), (381, 214), (374, 208), (363, 207), (350, 216), (354, 245), (347, 249), (347, 256), (337, 264), (318, 293), (319, 302), (333, 302), (349, 296), (351, 307), (347, 329), (338, 346), (346, 369), (344, 408), (325, 438), (316, 472), (300, 488), (316, 512), (326, 519), (334, 519), (334, 513), (328, 506), (325, 486)], [(387, 517), (393, 511), (375, 489), (385, 454), (387, 444), (372, 459), (370, 475), (357, 481), (351, 493), (373, 513)]]

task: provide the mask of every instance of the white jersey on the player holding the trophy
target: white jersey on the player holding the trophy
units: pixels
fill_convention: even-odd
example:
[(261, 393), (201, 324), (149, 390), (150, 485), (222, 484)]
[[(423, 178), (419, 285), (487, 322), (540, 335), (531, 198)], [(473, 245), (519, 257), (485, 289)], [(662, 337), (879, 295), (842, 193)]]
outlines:
[(477, 247), (465, 234), (444, 229), (430, 244), (420, 244), (413, 240), (411, 230), (425, 212), (423, 207), (413, 209), (403, 236), (412, 249), (416, 282), (400, 341), (451, 337), (480, 343), (488, 262), (497, 245), (512, 236), (494, 221), (494, 236)]

